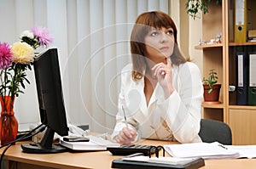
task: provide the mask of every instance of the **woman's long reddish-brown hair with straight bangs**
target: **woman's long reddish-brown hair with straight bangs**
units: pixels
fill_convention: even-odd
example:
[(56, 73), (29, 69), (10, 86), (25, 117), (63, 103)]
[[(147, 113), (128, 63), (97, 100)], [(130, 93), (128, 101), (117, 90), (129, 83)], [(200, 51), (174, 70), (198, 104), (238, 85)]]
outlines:
[(146, 51), (144, 38), (148, 34), (150, 29), (154, 28), (170, 28), (173, 29), (174, 35), (174, 48), (171, 56), (173, 65), (180, 65), (186, 62), (183, 54), (180, 52), (177, 46), (177, 28), (172, 18), (163, 12), (152, 11), (140, 14), (137, 17), (136, 24), (133, 26), (131, 31), (131, 60), (133, 65), (132, 78), (134, 81), (143, 78), (143, 71), (147, 69), (146, 56), (144, 52)]

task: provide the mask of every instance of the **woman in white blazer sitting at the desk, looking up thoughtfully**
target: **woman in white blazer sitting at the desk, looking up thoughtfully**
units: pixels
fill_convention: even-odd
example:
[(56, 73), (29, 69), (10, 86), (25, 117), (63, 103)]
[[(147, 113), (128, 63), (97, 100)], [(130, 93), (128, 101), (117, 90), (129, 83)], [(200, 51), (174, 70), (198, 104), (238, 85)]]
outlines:
[(122, 70), (113, 140), (201, 142), (201, 73), (180, 53), (177, 28), (168, 14), (138, 16), (131, 32), (131, 59), (132, 65)]

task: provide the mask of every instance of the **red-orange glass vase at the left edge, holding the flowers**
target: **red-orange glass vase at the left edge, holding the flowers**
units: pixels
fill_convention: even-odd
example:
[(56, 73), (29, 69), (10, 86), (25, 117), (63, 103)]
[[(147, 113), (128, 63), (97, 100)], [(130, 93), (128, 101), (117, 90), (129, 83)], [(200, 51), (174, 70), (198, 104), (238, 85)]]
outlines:
[(0, 140), (1, 145), (14, 141), (18, 133), (18, 121), (15, 118), (15, 97), (0, 96), (2, 106), (0, 116)]

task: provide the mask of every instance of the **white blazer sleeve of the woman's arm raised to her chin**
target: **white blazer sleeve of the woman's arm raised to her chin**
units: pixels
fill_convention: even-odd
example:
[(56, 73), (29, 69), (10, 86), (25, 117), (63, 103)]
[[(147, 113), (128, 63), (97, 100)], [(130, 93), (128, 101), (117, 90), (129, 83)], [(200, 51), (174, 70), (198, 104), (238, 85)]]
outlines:
[[(189, 72), (189, 73), (188, 73)], [(159, 103), (167, 125), (180, 143), (201, 142), (198, 136), (201, 122), (203, 86), (197, 65), (184, 64), (178, 70), (178, 91)]]

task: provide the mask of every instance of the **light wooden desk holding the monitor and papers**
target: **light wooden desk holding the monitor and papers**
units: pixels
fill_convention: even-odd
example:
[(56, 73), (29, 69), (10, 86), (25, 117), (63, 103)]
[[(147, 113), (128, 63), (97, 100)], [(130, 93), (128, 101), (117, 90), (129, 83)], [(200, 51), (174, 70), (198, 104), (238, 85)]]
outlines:
[[(24, 144), (24, 143), (23, 143)], [(27, 144), (27, 143), (26, 143)], [(143, 140), (139, 144), (164, 145), (175, 144), (165, 141)], [(1, 152), (3, 149), (1, 150)], [(84, 169), (111, 168), (113, 159), (120, 156), (111, 155), (108, 151), (60, 153), (60, 154), (26, 154), (20, 148), (20, 143), (11, 146), (4, 156), (7, 168), (10, 169)], [(240, 169), (255, 168), (256, 159), (234, 159), (234, 160), (207, 160), (206, 166), (201, 169)]]

